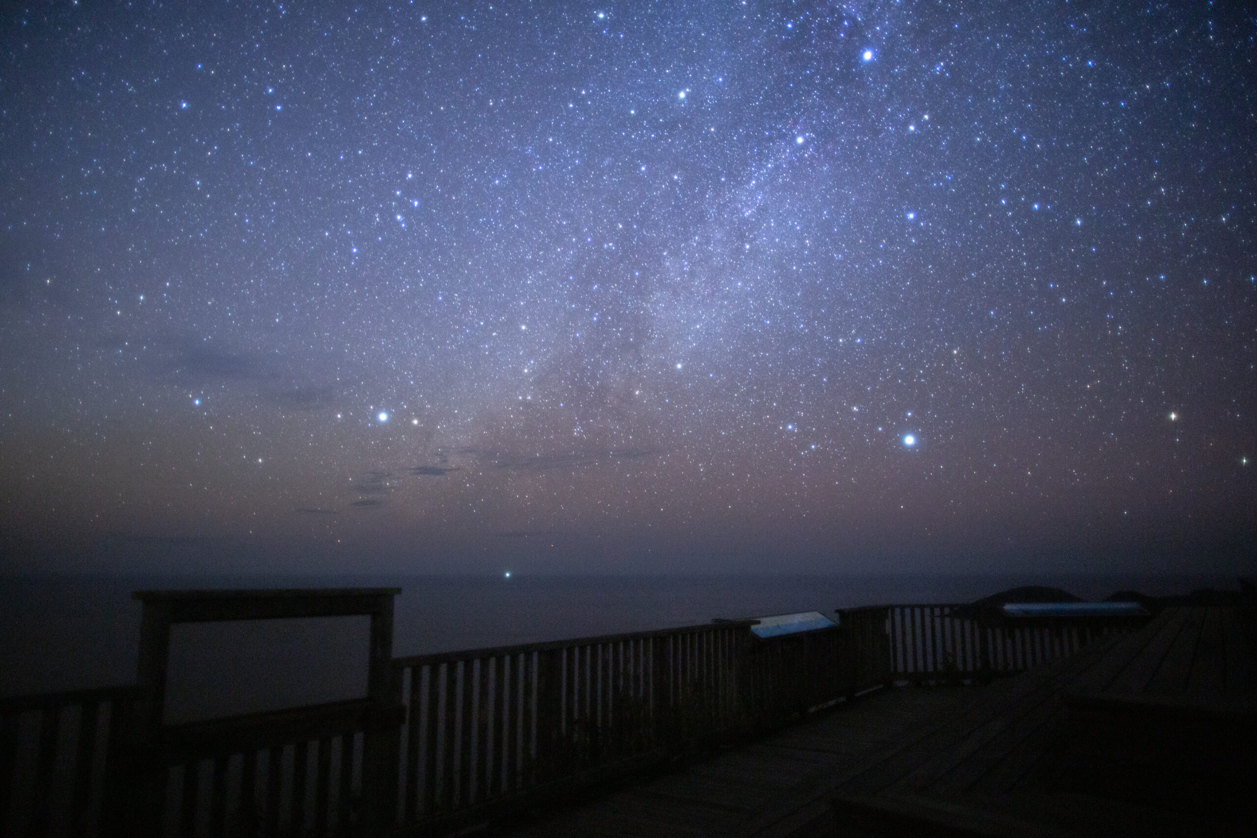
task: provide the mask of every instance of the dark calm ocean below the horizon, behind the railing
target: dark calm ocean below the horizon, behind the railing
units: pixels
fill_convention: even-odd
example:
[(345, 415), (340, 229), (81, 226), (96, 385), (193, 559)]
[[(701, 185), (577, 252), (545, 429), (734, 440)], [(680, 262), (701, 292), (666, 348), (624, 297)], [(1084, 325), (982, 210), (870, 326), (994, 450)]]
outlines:
[[(885, 603), (972, 602), (1023, 584), (1086, 599), (1234, 589), (1219, 575), (318, 577), (0, 579), (0, 695), (131, 683), (145, 588), (383, 587), (393, 655), (505, 646)], [(362, 695), (366, 617), (178, 626), (167, 717)]]

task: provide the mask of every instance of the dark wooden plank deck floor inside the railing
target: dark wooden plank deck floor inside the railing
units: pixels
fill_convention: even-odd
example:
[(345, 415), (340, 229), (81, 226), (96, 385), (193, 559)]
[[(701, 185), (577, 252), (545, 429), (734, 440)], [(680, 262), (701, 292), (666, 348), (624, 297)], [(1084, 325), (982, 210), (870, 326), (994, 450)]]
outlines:
[(1237, 608), (1166, 609), (1018, 677), (881, 690), (505, 834), (1257, 834), (1254, 695)]

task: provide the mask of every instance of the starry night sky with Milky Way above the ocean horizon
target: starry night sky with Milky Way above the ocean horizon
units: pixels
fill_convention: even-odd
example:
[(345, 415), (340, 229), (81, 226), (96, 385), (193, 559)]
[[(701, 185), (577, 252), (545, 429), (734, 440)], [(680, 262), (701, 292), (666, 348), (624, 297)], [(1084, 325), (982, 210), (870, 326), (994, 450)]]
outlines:
[(6, 5), (0, 568), (1251, 568), (1242, 5)]

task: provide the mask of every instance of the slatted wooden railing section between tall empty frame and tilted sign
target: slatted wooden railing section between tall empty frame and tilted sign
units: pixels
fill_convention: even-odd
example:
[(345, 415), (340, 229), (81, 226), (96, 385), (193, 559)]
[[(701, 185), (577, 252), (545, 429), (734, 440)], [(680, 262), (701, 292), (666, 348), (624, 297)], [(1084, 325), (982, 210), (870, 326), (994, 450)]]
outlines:
[(739, 726), (748, 623), (395, 661), (407, 722), (400, 823), (537, 800)]

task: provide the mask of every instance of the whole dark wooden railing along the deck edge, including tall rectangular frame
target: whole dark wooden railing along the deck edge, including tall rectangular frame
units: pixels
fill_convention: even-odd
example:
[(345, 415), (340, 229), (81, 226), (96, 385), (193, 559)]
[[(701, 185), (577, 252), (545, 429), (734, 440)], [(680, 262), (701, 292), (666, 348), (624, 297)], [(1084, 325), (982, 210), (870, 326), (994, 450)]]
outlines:
[[(1021, 671), (1130, 627), (887, 606), (766, 639), (719, 621), (390, 663), (392, 593), (342, 593), (312, 592), (322, 611), (297, 592), (146, 594), (166, 611), (146, 601), (140, 686), (0, 701), (0, 835), (441, 834), (881, 685)], [(171, 622), (328, 608), (372, 614), (366, 699), (160, 724)]]

